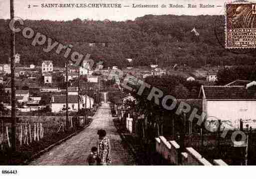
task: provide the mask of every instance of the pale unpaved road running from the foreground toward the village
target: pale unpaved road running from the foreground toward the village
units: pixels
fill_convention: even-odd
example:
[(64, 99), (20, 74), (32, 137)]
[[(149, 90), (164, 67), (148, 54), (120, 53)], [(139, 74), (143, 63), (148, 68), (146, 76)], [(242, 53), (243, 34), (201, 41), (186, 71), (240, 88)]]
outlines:
[(109, 104), (103, 103), (88, 128), (32, 161), (30, 165), (87, 165), (86, 158), (91, 147), (96, 146), (98, 129), (107, 131), (112, 165), (135, 165), (135, 159), (123, 146), (112, 119)]

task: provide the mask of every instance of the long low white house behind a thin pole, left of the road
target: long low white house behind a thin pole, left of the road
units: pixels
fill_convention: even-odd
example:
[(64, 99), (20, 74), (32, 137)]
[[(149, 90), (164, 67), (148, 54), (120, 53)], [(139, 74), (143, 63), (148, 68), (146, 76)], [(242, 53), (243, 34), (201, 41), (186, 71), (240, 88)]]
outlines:
[[(78, 110), (78, 95), (68, 95), (68, 110), (77, 111)], [(82, 100), (80, 99), (80, 105), (82, 106)], [(52, 95), (51, 111), (54, 113), (65, 111), (66, 109), (66, 95)]]

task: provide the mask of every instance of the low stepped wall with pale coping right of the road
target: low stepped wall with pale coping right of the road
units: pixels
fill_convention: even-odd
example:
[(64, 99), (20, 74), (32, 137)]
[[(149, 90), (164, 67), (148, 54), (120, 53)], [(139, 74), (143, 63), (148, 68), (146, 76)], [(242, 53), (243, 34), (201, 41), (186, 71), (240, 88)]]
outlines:
[[(156, 152), (159, 153), (164, 159), (175, 165), (185, 166), (212, 166), (212, 164), (202, 157), (193, 148), (186, 148), (186, 152), (180, 154), (180, 146), (176, 141), (167, 141), (165, 137), (160, 136), (155, 138), (156, 140)], [(181, 163), (179, 163), (179, 156), (181, 157)], [(222, 160), (214, 160), (214, 165), (227, 165)]]

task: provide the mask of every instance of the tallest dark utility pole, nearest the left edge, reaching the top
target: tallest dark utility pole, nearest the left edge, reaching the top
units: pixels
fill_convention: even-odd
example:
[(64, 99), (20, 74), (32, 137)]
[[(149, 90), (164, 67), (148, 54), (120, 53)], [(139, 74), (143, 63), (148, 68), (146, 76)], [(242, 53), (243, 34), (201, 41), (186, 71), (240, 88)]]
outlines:
[[(14, 18), (13, 0), (10, 0), (10, 20)], [(16, 97), (15, 97), (15, 32), (10, 32), (10, 69), (11, 69), (11, 146), (16, 151)]]

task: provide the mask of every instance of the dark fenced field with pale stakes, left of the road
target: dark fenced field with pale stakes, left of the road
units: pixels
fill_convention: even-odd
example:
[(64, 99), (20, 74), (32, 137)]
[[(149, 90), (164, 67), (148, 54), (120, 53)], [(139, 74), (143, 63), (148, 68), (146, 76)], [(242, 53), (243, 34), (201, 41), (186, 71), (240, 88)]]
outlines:
[(16, 152), (11, 152), (11, 124), (0, 124), (0, 165), (20, 165), (39, 151), (83, 129), (91, 118), (64, 116), (18, 116)]

